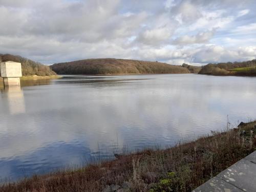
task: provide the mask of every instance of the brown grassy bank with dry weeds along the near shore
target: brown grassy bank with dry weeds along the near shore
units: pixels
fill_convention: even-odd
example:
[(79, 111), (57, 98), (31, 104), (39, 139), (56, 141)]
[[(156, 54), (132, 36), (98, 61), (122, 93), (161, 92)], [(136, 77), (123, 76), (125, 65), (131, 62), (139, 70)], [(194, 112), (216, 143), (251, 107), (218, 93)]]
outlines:
[(255, 150), (255, 125), (256, 121), (165, 150), (34, 176), (5, 184), (0, 191), (191, 191)]

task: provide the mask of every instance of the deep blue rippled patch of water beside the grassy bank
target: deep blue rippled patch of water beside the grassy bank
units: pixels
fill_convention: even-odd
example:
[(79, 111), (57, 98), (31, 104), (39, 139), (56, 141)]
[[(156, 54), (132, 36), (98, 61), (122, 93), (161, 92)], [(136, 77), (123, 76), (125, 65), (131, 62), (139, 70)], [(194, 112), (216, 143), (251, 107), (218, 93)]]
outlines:
[(8, 179), (47, 173), (56, 168), (81, 165), (90, 161), (90, 149), (86, 143), (55, 142), (38, 148), (36, 151), (14, 158), (0, 158), (0, 183)]

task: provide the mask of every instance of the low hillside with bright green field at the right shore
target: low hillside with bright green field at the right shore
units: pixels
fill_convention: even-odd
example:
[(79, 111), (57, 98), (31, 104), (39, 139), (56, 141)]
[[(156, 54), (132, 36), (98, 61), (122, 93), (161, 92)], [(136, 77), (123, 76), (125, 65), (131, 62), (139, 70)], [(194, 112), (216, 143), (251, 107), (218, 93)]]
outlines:
[(244, 62), (209, 63), (199, 74), (256, 76), (256, 59)]

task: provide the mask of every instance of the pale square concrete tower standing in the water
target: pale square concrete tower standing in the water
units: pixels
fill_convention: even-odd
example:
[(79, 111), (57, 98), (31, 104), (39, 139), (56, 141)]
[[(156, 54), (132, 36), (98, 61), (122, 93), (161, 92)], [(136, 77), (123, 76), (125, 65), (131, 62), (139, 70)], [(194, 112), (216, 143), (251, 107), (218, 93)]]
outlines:
[(19, 86), (19, 77), (22, 77), (22, 64), (19, 62), (6, 61), (0, 63), (1, 77), (4, 78), (5, 86)]

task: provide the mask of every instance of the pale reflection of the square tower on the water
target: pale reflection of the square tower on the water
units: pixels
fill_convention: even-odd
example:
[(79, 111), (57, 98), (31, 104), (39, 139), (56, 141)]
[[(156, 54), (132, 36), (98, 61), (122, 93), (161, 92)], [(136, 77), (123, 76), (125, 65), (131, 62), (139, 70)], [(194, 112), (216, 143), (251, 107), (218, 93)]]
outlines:
[(24, 95), (20, 86), (6, 87), (5, 92), (7, 93), (10, 114), (25, 113)]

